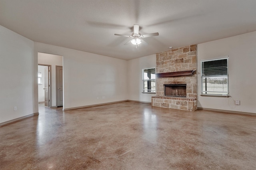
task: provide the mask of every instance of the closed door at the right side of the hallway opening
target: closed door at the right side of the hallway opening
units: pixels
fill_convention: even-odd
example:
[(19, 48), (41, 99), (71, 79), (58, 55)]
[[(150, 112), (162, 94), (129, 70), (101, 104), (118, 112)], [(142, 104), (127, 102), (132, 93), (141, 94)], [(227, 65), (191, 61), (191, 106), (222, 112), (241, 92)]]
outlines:
[(56, 66), (56, 87), (57, 87), (57, 107), (63, 106), (63, 79), (62, 66)]

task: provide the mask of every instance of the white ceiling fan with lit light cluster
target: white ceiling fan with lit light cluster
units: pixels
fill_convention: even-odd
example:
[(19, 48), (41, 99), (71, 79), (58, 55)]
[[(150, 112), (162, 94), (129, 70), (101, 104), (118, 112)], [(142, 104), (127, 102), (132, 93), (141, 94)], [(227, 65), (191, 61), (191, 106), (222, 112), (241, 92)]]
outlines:
[[(126, 35), (122, 35), (122, 34), (114, 34), (115, 36), (123, 36), (123, 37), (128, 37), (128, 38), (132, 38), (131, 40), (131, 43), (136, 45), (136, 48), (137, 48), (137, 45), (139, 45), (143, 40), (142, 38), (147, 38), (147, 37), (153, 37), (153, 36), (158, 36), (159, 33), (158, 32), (155, 32), (155, 33), (151, 33), (151, 34), (144, 34), (144, 35), (141, 35), (139, 33), (139, 25), (137, 24), (134, 24), (133, 25), (133, 33), (131, 36), (126, 36)], [(130, 42), (130, 41), (129, 41)], [(144, 41), (145, 42), (145, 41)], [(146, 43), (146, 42), (145, 42)], [(128, 44), (125, 43), (125, 45)]]

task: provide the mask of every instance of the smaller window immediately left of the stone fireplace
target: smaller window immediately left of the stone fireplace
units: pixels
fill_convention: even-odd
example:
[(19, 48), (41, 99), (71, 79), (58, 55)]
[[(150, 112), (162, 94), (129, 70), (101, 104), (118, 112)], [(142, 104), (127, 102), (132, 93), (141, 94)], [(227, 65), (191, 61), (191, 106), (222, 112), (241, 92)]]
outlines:
[(156, 69), (143, 69), (143, 93), (156, 93)]

